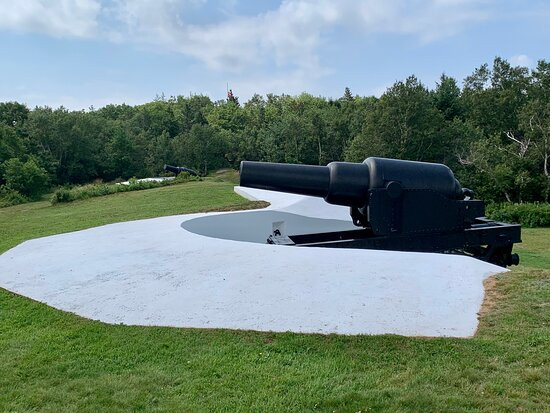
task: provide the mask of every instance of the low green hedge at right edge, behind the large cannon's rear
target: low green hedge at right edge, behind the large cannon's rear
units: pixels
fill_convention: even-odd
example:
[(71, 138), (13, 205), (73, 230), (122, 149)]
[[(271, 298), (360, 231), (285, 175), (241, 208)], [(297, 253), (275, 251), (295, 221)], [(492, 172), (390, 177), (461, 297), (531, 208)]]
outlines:
[(549, 203), (491, 204), (486, 212), (496, 221), (521, 224), (526, 228), (550, 227)]

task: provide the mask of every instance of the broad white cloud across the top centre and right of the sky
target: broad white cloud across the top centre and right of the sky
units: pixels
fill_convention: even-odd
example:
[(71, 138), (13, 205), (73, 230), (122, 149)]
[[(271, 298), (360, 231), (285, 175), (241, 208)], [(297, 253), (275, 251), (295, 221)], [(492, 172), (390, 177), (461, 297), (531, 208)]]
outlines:
[(196, 1), (118, 0), (112, 12), (122, 26), (113, 38), (183, 53), (225, 71), (246, 72), (262, 64), (316, 71), (322, 36), (330, 30), (433, 41), (488, 16), (469, 0), (286, 0), (256, 16), (196, 25), (185, 20), (192, 4)]

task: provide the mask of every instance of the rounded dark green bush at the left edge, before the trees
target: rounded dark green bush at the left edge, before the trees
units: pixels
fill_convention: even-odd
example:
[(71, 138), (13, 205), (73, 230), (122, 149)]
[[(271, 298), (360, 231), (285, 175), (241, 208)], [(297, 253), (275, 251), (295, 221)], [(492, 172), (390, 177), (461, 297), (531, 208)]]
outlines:
[(3, 163), (6, 187), (30, 199), (38, 199), (48, 190), (48, 173), (33, 158), (23, 163), (18, 158)]

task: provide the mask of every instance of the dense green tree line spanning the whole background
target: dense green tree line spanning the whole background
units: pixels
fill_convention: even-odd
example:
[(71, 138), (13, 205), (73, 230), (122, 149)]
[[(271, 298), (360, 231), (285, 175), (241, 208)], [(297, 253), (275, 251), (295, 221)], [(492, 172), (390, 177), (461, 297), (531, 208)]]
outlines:
[[(0, 185), (35, 198), (47, 187), (157, 175), (164, 164), (201, 174), (243, 159), (325, 165), (382, 156), (451, 167), (484, 199), (550, 194), (550, 62), (535, 69), (496, 58), (462, 87), (415, 76), (380, 97), (309, 94), (158, 97), (89, 111), (0, 103)], [(1, 192), (0, 192), (1, 193)]]

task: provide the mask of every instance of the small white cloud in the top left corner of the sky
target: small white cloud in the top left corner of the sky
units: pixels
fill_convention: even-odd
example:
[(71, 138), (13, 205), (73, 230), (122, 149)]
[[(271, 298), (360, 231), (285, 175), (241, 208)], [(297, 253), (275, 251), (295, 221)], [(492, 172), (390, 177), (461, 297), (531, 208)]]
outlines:
[(0, 29), (55, 37), (98, 35), (99, 0), (0, 0)]

